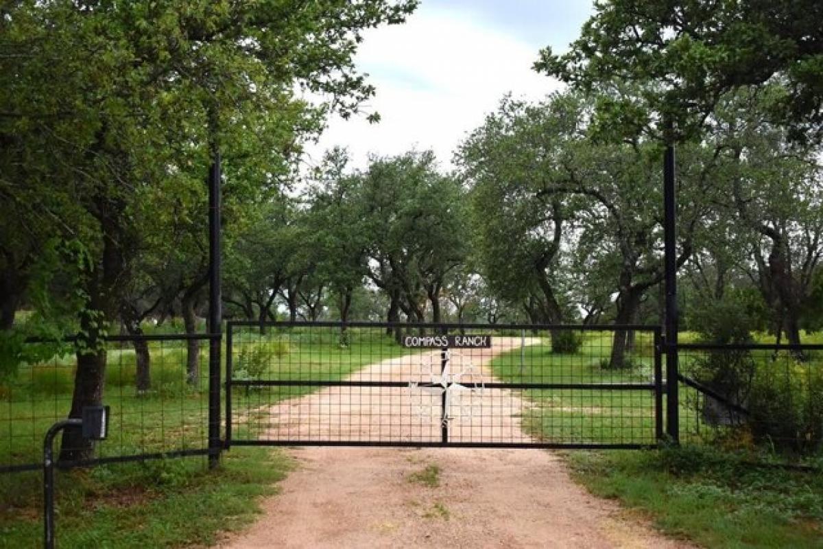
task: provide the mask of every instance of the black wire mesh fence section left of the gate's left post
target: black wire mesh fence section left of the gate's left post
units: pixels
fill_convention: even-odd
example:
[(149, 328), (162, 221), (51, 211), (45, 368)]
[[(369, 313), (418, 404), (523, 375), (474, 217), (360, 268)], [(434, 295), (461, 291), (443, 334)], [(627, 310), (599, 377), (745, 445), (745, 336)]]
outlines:
[[(207, 454), (210, 338), (106, 338), (108, 438), (95, 443), (91, 459), (60, 464)], [(0, 379), (0, 472), (40, 468), (44, 433), (72, 407), (77, 371), (73, 344), (29, 342), (26, 347), (26, 356), (40, 358)]]

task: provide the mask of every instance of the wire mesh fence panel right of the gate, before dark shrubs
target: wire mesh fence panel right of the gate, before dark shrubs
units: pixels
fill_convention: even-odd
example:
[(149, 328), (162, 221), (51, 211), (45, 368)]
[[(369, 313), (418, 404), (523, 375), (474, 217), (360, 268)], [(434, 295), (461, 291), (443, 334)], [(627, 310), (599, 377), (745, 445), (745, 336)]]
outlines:
[(681, 344), (681, 439), (805, 454), (823, 445), (823, 345)]

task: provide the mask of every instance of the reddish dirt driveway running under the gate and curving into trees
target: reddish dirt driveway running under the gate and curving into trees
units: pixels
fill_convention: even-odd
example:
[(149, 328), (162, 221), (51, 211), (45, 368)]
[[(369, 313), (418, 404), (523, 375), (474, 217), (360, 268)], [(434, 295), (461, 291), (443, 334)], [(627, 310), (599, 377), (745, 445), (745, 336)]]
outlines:
[[(474, 374), (488, 382), (488, 361), (519, 344), (518, 338), (497, 337), (490, 350), (473, 351)], [(419, 379), (425, 363), (420, 357), (382, 361), (351, 379)], [(438, 418), (421, 415), (420, 407), (408, 402), (415, 398), (409, 391), (378, 391), (327, 388), (281, 402), (268, 410), (276, 420), (265, 435), (439, 435)], [(481, 392), (463, 400), (464, 413), (453, 419), (456, 440), (528, 440), (512, 413), (523, 407), (514, 394)], [(472, 414), (475, 409), (483, 412)], [(398, 421), (412, 410), (414, 417)], [(490, 410), (495, 412), (491, 423), (483, 420)], [(329, 416), (335, 421), (323, 420)], [(374, 417), (388, 418), (388, 425), (375, 426)], [(258, 522), (221, 547), (687, 547), (627, 518), (614, 503), (588, 495), (570, 480), (560, 458), (544, 450), (305, 447), (288, 452), (299, 468), (281, 482), (281, 494), (264, 501)]]

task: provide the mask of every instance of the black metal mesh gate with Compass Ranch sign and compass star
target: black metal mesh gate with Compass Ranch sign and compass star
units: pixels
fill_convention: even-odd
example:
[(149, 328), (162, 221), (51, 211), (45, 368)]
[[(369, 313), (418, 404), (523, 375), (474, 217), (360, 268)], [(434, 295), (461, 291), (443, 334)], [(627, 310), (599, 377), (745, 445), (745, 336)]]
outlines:
[(663, 436), (657, 327), (227, 330), (227, 445), (631, 449)]

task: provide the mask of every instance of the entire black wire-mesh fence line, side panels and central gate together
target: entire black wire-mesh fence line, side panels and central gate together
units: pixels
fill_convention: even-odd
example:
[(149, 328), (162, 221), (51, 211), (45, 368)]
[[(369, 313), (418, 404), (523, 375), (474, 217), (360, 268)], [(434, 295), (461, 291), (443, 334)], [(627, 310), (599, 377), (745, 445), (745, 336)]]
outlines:
[[(107, 338), (109, 437), (63, 466), (205, 456), (210, 339)], [(229, 323), (226, 345), (229, 444), (635, 448), (663, 437), (657, 328)], [(39, 358), (0, 379), (0, 473), (40, 468), (43, 435), (72, 404), (72, 344), (27, 347)], [(823, 346), (677, 348), (681, 441), (823, 449)]]

